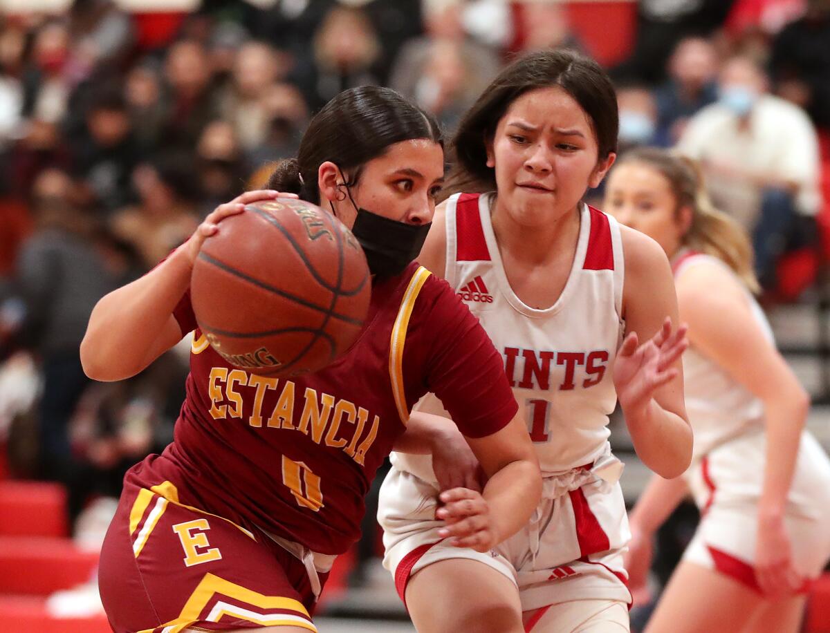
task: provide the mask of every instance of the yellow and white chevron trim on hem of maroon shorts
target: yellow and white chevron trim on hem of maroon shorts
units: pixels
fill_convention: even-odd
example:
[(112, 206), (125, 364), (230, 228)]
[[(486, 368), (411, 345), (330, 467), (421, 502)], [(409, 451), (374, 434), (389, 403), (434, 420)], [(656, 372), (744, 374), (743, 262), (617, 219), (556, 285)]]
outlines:
[[(241, 585), (237, 585), (234, 582), (215, 576), (212, 573), (206, 573), (202, 581), (199, 582), (198, 587), (196, 587), (188, 598), (188, 601), (185, 602), (178, 617), (159, 626), (164, 627), (164, 630), (169, 631), (169, 633), (179, 633), (194, 622), (218, 622), (222, 619), (222, 616), (232, 615), (234, 617), (241, 617), (243, 620), (256, 622), (256, 624), (261, 624), (262, 626), (300, 626), (309, 631), (315, 631), (315, 633), (317, 631), (317, 628), (305, 618), (290, 616), (289, 614), (259, 613), (257, 611), (251, 611), (250, 609), (243, 609), (236, 605), (229, 605), (227, 602), (219, 604), (221, 601), (217, 601), (217, 605), (214, 606), (206, 617), (201, 617), (202, 611), (214, 600), (214, 596), (217, 594), (231, 597), (234, 600), (260, 609), (286, 609), (286, 611), (294, 611), (301, 616), (305, 616), (305, 618), (310, 618), (309, 612), (305, 610), (305, 606), (294, 598), (265, 596)], [(247, 613), (242, 614), (240, 611), (247, 611)], [(154, 629), (139, 631), (139, 633), (151, 633), (151, 631), (158, 629), (159, 626), (156, 626)]]

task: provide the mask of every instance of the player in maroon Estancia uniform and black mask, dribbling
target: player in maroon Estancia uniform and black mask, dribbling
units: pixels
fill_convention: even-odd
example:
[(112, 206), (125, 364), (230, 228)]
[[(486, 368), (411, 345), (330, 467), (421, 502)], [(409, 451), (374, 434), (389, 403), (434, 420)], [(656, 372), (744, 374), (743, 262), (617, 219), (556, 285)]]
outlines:
[(175, 439), (129, 470), (102, 548), (115, 631), (315, 631), (316, 597), (359, 537), (378, 465), (396, 441), (437, 437), (427, 418), (409, 420), (429, 390), (491, 476), (481, 493), (443, 494), (466, 517), (448, 532), (487, 551), (530, 517), (540, 471), (500, 356), (452, 289), (412, 263), (442, 176), (434, 119), (382, 88), (335, 97), (311, 120), (299, 158), (277, 168), (276, 189), (354, 227), (374, 275), (363, 333), (320, 372), (277, 379), (232, 368), (190, 304), (205, 236), (275, 191), (217, 207), (166, 261), (100, 300), (81, 347), (99, 380), (139, 372), (195, 330)]

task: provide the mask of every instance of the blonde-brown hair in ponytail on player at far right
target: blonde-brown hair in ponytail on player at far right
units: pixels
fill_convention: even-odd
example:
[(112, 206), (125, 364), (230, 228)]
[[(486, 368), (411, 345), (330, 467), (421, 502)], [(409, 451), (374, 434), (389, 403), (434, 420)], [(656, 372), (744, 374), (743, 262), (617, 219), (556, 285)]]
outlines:
[(738, 222), (712, 204), (698, 164), (665, 149), (648, 147), (627, 152), (619, 164), (629, 162), (656, 169), (670, 183), (678, 210), (691, 208), (691, 226), (681, 239), (683, 246), (717, 257), (757, 294), (760, 286), (753, 270), (749, 236)]

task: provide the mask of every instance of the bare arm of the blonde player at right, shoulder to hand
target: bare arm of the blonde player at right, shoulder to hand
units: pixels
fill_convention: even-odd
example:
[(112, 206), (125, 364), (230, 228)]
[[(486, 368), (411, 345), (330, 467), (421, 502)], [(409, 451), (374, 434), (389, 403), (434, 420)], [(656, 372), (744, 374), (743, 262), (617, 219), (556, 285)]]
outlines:
[[(797, 587), (791, 576), (784, 509), (810, 398), (751, 312), (745, 290), (720, 266), (699, 264), (677, 284), (681, 316), (701, 353), (764, 402), (766, 460), (758, 507), (756, 575), (768, 592)], [(712, 319), (717, 314), (717, 319)]]

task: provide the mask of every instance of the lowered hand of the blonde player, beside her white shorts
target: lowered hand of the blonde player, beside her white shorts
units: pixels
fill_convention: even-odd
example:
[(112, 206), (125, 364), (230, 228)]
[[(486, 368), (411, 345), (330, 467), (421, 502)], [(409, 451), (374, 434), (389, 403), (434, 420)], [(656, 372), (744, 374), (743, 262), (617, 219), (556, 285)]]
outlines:
[(761, 591), (773, 597), (792, 595), (803, 585), (804, 578), (793, 567), (792, 543), (780, 516), (759, 517), (755, 579)]

